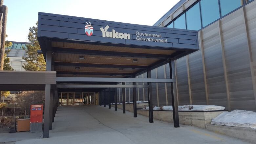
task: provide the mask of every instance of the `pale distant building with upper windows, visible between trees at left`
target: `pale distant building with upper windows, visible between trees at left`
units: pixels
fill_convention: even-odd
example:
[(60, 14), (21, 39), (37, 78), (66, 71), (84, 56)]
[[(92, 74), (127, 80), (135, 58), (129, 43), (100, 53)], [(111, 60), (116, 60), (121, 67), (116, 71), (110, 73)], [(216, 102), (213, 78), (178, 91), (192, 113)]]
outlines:
[(7, 57), (10, 58), (10, 65), (14, 69), (14, 71), (25, 71), (22, 66), (24, 63), (27, 63), (22, 57), (28, 57), (27, 53), (23, 48), (27, 48), (26, 45), (30, 43), (26, 42), (13, 42), (11, 47), (7, 47), (6, 49), (10, 49), (11, 51), (7, 54)]

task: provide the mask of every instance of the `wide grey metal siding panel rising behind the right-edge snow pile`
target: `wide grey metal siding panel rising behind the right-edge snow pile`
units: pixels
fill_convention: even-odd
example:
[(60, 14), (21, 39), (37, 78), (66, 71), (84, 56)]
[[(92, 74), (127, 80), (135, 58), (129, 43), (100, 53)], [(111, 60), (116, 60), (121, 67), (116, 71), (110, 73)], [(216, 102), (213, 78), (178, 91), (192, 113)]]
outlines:
[[(231, 110), (255, 110), (243, 9), (221, 19)], [(247, 105), (245, 107), (245, 105)]]

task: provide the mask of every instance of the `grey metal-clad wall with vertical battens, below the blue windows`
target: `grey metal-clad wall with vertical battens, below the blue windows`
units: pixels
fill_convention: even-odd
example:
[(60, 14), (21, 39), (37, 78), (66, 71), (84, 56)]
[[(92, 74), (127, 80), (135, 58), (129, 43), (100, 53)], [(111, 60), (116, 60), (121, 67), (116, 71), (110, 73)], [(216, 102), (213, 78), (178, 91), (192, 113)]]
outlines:
[[(256, 111), (255, 11), (256, 1), (198, 32), (200, 51), (175, 61), (179, 105)], [(152, 70), (151, 77), (170, 78), (169, 64)], [(172, 104), (170, 84), (152, 83), (152, 90), (153, 105)], [(147, 89), (139, 89), (138, 98), (147, 101)]]

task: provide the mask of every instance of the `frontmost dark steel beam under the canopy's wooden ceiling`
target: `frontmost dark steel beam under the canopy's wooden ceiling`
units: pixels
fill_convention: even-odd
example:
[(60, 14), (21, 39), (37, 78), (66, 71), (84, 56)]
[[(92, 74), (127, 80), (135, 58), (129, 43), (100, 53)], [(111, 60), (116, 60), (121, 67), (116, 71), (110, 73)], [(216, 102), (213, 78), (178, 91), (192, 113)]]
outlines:
[[(75, 53), (75, 54), (90, 54), (90, 55), (106, 55), (106, 56), (122, 56), (122, 57), (141, 57), (141, 58), (159, 58), (167, 59), (171, 55), (168, 54), (151, 54), (151, 53), (134, 53), (134, 52), (119, 52), (119, 51), (99, 51), (99, 50), (85, 50), (85, 49), (70, 49), (53, 47), (53, 52), (58, 53)], [(40, 52), (40, 51), (37, 51)], [(42, 52), (42, 51), (41, 51)]]

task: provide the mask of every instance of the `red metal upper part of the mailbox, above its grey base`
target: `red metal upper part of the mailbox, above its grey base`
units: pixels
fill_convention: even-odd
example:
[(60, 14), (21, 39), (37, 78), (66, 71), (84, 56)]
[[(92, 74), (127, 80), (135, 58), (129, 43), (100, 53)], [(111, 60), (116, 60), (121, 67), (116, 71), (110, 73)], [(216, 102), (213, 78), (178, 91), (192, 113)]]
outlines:
[(30, 123), (43, 122), (43, 105), (30, 106)]

